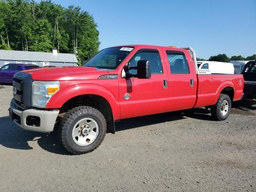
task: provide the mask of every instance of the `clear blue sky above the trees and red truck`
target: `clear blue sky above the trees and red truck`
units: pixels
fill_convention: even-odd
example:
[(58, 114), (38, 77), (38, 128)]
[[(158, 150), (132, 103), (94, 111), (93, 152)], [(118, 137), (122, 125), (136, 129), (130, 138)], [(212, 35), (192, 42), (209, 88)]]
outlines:
[[(39, 2), (39, 0), (38, 0)], [(100, 49), (122, 44), (191, 46), (197, 57), (256, 54), (256, 0), (52, 0), (94, 16)]]

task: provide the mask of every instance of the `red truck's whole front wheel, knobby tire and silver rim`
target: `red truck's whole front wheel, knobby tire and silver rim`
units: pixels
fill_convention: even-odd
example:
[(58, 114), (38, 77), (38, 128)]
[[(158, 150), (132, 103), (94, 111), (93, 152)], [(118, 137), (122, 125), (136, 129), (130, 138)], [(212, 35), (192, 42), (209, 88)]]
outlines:
[(67, 112), (61, 121), (59, 138), (72, 154), (95, 150), (106, 135), (106, 120), (102, 113), (88, 106), (76, 107)]

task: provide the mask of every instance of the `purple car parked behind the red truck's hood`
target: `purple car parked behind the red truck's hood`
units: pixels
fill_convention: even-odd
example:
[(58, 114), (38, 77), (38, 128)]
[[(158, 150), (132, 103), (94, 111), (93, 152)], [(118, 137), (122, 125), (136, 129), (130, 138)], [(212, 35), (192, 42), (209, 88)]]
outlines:
[(0, 83), (12, 83), (15, 73), (38, 67), (37, 65), (31, 64), (6, 64), (0, 68)]

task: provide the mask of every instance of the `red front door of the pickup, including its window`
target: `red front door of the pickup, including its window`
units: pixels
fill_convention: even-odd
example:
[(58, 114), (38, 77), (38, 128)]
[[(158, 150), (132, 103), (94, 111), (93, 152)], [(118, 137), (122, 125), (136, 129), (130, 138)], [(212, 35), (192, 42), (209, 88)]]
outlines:
[[(142, 49), (128, 62), (129, 66), (137, 66), (138, 60), (149, 60), (151, 78), (131, 77), (119, 80), (121, 118), (166, 112), (168, 75), (163, 58), (161, 50)], [(129, 73), (137, 74), (137, 70), (129, 70)]]

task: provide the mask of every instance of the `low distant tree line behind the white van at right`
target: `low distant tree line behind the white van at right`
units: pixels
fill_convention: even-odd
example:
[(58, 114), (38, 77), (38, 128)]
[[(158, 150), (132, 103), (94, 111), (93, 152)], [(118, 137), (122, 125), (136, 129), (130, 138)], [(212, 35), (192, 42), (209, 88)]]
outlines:
[(256, 60), (256, 54), (252, 56), (248, 56), (246, 58), (242, 57), (241, 55), (238, 56), (232, 56), (228, 57), (226, 54), (218, 54), (214, 56), (210, 56), (208, 60), (202, 59), (202, 58), (196, 58), (197, 61), (218, 61), (218, 62), (230, 62), (234, 60), (239, 60), (239, 61), (248, 61), (248, 60)]

